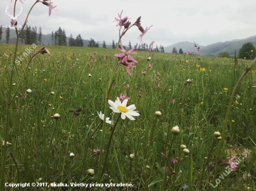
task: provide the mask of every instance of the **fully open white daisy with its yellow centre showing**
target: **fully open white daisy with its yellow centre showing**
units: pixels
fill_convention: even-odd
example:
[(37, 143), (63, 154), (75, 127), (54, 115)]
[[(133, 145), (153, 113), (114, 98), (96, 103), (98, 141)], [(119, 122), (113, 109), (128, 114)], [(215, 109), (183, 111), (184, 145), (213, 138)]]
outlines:
[(115, 102), (108, 100), (108, 104), (111, 106), (113, 112), (121, 113), (121, 118), (125, 119), (128, 117), (130, 120), (135, 120), (133, 116), (139, 116), (140, 114), (137, 111), (133, 111), (136, 109), (135, 105), (129, 105), (126, 107), (128, 99), (125, 99), (123, 102), (119, 100), (119, 97), (116, 97)]

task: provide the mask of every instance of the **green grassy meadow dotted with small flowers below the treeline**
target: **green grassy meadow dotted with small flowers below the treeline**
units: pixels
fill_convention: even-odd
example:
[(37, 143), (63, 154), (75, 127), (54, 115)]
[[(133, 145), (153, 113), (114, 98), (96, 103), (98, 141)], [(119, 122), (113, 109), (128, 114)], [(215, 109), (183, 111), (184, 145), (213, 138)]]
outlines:
[[(28, 47), (19, 45), (17, 56)], [(130, 98), (128, 105), (140, 114), (132, 121), (121, 119), (108, 103), (104, 113), (117, 63), (114, 49), (47, 49), (52, 56), (38, 54), (27, 65), (31, 53), (10, 70), (15, 46), (0, 45), (1, 184), (30, 183), (4, 190), (256, 191), (255, 67), (236, 90), (224, 137), (222, 162), (241, 160), (234, 172), (227, 174), (227, 165), (219, 165), (218, 180), (213, 176), (220, 141), (214, 132), (222, 133), (230, 95), (251, 60), (135, 51), (132, 76), (120, 64), (109, 97), (113, 102), (121, 93)], [(7, 103), (8, 96), (16, 97)], [(115, 125), (102, 129), (100, 111)], [(244, 149), (249, 153), (243, 155)], [(110, 183), (130, 185), (105, 185)]]

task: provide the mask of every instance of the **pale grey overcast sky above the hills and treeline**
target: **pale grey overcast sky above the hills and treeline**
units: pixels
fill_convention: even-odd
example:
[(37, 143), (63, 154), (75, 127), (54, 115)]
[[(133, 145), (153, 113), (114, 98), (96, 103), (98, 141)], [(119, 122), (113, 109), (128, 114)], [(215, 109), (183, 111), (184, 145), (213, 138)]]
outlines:
[[(19, 15), (18, 25), (23, 24), (30, 7), (35, 0), (17, 1), (23, 11)], [(145, 29), (153, 25), (145, 34), (143, 42), (155, 45), (173, 45), (181, 41), (210, 45), (232, 39), (247, 38), (256, 35), (256, 0), (52, 0), (57, 6), (48, 16), (48, 7), (42, 3), (34, 6), (28, 18), (28, 25), (42, 27), (43, 34), (56, 31), (59, 26), (65, 29), (67, 37), (79, 33), (83, 39), (95, 41), (118, 40), (118, 27), (115, 17), (122, 13), (131, 23), (141, 16), (141, 26)], [(5, 13), (13, 13), (11, 0), (0, 0), (0, 25), (10, 25)], [(122, 38), (127, 45), (139, 43), (141, 32), (132, 27)]]

